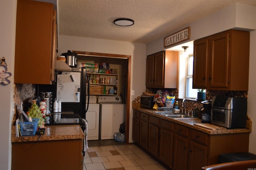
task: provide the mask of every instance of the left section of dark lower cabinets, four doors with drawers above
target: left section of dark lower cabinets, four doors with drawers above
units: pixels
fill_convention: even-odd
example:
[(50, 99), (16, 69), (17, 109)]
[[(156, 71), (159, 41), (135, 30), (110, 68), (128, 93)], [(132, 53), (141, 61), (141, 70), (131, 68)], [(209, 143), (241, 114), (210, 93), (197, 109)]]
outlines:
[[(138, 125), (139, 124), (139, 125)], [(166, 166), (172, 167), (173, 122), (134, 110), (132, 139)]]

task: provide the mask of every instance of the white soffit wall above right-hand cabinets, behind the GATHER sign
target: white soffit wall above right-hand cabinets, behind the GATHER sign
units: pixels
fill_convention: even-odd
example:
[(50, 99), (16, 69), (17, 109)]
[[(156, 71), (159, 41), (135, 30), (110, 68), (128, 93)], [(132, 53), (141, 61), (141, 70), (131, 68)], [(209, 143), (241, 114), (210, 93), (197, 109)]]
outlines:
[[(213, 14), (188, 24), (187, 26), (190, 26), (190, 39), (179, 44), (183, 44), (185, 42), (196, 40), (198, 38), (209, 36), (232, 28), (240, 28), (240, 30), (243, 28), (243, 30), (248, 31), (256, 30), (255, 16), (255, 6), (248, 6), (246, 4), (239, 3), (231, 4), (230, 6), (218, 10)], [(179, 28), (178, 30), (186, 28), (187, 26)], [(165, 36), (177, 32), (178, 30), (170, 32)], [(167, 48), (164, 48), (165, 36), (146, 44), (146, 55), (153, 54), (161, 50), (166, 50)], [(174, 46), (179, 44), (175, 44)]]

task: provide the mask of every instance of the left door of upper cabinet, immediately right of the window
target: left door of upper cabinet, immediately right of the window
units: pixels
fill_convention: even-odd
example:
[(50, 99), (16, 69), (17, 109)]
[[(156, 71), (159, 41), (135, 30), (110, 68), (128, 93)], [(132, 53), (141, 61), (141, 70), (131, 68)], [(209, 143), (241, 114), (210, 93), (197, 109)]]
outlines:
[(194, 41), (193, 88), (206, 88), (208, 76), (207, 38)]

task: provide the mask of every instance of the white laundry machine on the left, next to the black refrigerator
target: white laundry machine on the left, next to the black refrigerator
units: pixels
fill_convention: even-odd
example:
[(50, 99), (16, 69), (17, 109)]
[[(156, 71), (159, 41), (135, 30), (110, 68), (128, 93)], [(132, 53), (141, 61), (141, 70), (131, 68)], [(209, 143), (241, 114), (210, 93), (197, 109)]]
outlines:
[[(86, 108), (87, 108), (87, 103), (86, 103)], [(86, 112), (85, 119), (87, 121), (87, 140), (98, 140), (99, 139), (100, 104), (97, 103), (96, 96), (90, 96), (89, 98), (89, 107)]]

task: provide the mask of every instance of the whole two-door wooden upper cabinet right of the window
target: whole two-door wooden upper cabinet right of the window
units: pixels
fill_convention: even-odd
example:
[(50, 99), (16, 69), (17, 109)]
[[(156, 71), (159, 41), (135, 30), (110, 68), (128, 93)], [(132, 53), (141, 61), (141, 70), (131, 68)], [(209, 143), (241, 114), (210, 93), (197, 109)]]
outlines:
[(194, 41), (193, 88), (248, 91), (250, 33), (228, 30)]

